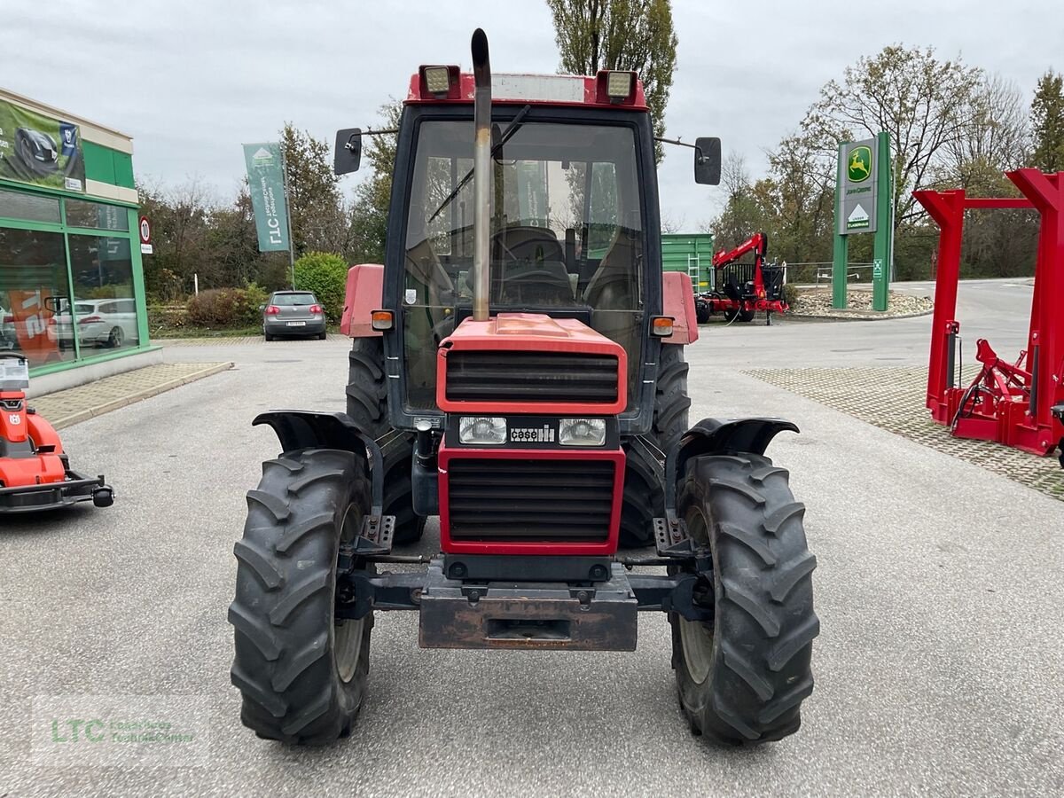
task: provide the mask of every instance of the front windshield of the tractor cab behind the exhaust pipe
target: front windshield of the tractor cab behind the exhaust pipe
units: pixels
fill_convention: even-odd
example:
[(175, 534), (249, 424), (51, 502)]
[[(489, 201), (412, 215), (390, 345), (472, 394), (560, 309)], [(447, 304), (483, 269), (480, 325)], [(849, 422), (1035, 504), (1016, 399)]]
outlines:
[[(643, 310), (635, 133), (535, 121), (518, 122), (509, 138), (505, 130), (493, 130), (492, 313), (580, 318), (628, 350), (634, 398)], [(472, 304), (472, 142), (471, 121), (428, 120), (418, 130), (402, 297), (415, 409), (434, 405), (436, 347)]]

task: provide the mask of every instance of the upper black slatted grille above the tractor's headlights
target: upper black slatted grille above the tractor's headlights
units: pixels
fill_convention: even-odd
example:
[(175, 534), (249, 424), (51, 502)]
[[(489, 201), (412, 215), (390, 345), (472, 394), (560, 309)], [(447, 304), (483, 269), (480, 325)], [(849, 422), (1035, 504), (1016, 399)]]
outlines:
[(452, 350), (447, 399), (454, 402), (617, 401), (617, 358), (579, 352)]

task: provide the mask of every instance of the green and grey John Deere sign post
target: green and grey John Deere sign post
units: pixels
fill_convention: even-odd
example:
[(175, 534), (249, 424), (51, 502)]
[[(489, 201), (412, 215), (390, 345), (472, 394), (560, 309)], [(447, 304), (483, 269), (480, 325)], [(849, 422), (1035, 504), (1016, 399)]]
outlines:
[(894, 206), (891, 179), (891, 137), (880, 133), (864, 142), (838, 145), (835, 180), (835, 242), (832, 254), (831, 303), (846, 307), (849, 238), (874, 233), (872, 310), (885, 311), (894, 259)]

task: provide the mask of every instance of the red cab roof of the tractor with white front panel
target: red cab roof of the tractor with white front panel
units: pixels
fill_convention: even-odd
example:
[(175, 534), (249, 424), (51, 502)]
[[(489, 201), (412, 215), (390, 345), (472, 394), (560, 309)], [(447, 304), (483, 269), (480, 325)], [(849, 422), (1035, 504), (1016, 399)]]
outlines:
[[(473, 77), (456, 66), (447, 67), (449, 89), (446, 95), (429, 92), (425, 78), (426, 66), (411, 76), (405, 103), (471, 103)], [(594, 78), (583, 74), (508, 74), (492, 73), (493, 103), (521, 103), (531, 105), (578, 105), (583, 107), (614, 107), (625, 111), (646, 111), (647, 99), (643, 82), (632, 74), (632, 90), (625, 99), (611, 99), (606, 93), (610, 72), (601, 70)]]

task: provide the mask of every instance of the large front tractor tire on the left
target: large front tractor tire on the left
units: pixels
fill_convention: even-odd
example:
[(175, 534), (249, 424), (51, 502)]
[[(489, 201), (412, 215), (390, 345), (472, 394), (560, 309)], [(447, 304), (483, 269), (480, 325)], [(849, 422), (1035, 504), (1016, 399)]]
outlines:
[(337, 620), (336, 558), (370, 505), (365, 460), (302, 449), (263, 463), (248, 492), (229, 608), (240, 720), (260, 737), (325, 745), (348, 734), (369, 675), (372, 613)]

